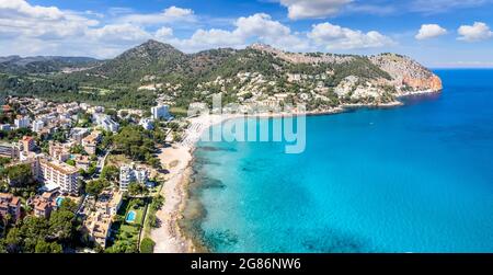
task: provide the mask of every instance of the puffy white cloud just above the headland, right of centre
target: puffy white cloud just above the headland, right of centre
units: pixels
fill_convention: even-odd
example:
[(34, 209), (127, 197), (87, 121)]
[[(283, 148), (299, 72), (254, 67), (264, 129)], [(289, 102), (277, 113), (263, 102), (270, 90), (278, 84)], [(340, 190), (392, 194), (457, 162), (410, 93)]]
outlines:
[(331, 23), (321, 23), (312, 26), (308, 37), (326, 49), (360, 49), (391, 46), (394, 42), (379, 32), (364, 33)]

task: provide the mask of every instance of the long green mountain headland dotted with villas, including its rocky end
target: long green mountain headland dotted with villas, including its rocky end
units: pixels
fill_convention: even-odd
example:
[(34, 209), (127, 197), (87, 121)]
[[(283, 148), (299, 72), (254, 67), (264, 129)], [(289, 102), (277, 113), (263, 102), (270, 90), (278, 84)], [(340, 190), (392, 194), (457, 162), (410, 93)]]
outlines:
[[(15, 57), (0, 60), (19, 64)], [(191, 102), (210, 103), (213, 94), (221, 93), (226, 103), (305, 103), (309, 110), (323, 111), (345, 103), (391, 103), (400, 95), (442, 90), (440, 79), (432, 71), (395, 54), (300, 54), (263, 44), (184, 54), (148, 41), (114, 59), (93, 64), (71, 73), (47, 76), (44, 82), (3, 77), (0, 91), (117, 107), (148, 107), (158, 98), (186, 107)]]

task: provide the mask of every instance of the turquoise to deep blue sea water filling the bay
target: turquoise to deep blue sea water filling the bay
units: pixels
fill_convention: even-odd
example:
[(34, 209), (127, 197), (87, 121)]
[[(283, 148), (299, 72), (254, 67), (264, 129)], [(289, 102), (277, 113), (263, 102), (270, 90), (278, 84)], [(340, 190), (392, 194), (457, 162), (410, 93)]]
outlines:
[(301, 154), (200, 142), (205, 240), (218, 252), (493, 252), (493, 70), (436, 73), (442, 94), (308, 117)]

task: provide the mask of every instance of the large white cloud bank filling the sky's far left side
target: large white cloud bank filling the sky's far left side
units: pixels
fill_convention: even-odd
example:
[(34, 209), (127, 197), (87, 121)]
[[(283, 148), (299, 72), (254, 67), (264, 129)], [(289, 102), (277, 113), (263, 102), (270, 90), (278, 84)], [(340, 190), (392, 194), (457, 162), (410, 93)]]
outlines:
[[(171, 7), (157, 14), (135, 16), (133, 10), (111, 10), (112, 20), (104, 23), (101, 14), (33, 5), (24, 0), (0, 0), (0, 55), (65, 55), (113, 57), (154, 37), (172, 37), (164, 24), (192, 21), (193, 11)], [(157, 24), (156, 32), (148, 25)]]

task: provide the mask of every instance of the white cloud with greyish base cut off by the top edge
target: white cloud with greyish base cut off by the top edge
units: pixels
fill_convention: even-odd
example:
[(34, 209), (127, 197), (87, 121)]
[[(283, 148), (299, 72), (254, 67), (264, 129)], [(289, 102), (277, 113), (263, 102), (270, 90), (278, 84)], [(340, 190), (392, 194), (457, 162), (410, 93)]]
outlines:
[(334, 15), (353, 0), (279, 0), (279, 2), (288, 8), (289, 19), (299, 20)]

